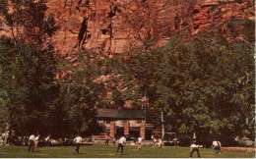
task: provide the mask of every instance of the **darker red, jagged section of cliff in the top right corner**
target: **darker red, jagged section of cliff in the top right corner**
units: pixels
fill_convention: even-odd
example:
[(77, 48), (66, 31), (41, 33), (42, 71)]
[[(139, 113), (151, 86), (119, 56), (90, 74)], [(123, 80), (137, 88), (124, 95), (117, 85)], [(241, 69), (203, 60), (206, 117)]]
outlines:
[(251, 0), (205, 0), (194, 9), (192, 35), (231, 20), (255, 21), (254, 10)]

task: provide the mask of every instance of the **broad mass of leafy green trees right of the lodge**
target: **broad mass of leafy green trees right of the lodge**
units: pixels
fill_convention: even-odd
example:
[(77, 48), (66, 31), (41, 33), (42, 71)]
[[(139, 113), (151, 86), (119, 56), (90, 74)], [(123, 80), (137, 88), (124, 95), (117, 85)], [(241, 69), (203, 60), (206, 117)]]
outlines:
[(173, 39), (127, 61), (141, 93), (148, 91), (149, 112), (155, 113), (149, 122), (160, 128), (163, 111), (168, 132), (254, 137), (254, 47), (207, 36)]

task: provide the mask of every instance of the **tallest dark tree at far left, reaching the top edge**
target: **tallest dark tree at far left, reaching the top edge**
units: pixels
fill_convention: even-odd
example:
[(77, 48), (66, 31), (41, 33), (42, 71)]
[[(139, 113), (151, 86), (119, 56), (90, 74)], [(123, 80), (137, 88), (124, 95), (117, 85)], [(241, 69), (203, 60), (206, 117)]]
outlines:
[(0, 39), (2, 120), (14, 131), (37, 132), (58, 91), (58, 57), (45, 43), (58, 27), (44, 0), (3, 0), (0, 8), (1, 29), (9, 32)]

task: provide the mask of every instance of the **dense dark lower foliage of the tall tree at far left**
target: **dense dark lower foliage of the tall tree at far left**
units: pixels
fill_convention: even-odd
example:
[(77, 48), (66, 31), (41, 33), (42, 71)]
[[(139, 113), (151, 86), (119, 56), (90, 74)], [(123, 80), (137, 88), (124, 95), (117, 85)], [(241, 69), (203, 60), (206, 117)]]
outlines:
[(4, 121), (15, 131), (39, 131), (56, 91), (54, 51), (2, 37), (0, 52)]

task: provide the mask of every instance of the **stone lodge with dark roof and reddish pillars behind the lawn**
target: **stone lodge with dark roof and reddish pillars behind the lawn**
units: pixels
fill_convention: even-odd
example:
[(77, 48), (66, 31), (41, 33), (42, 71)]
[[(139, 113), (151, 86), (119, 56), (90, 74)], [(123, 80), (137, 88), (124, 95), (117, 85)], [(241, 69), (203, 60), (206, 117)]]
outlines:
[(151, 139), (153, 134), (153, 125), (145, 122), (145, 110), (97, 109), (96, 119), (111, 137), (132, 134)]

